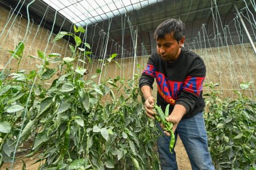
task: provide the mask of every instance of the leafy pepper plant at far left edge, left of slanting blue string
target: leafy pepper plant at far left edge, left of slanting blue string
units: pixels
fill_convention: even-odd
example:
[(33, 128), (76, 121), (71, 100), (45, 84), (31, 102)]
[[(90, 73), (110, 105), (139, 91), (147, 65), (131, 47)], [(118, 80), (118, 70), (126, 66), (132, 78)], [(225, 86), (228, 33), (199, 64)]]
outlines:
[[(0, 80), (0, 165), (3, 161), (10, 161), (14, 152), (13, 144), (23, 121), (28, 92), (36, 76), (36, 71), (26, 73), (25, 70), (19, 70), (23, 50), (24, 44), (19, 42), (14, 51), (9, 51), (18, 60), (16, 72), (9, 74), (5, 71), (1, 73), (7, 74)], [(37, 86), (38, 90), (40, 88)], [(31, 99), (27, 102), (28, 109), (32, 106), (32, 101), (35, 100), (36, 96), (39, 94), (31, 94)]]

